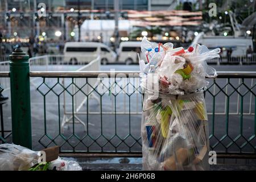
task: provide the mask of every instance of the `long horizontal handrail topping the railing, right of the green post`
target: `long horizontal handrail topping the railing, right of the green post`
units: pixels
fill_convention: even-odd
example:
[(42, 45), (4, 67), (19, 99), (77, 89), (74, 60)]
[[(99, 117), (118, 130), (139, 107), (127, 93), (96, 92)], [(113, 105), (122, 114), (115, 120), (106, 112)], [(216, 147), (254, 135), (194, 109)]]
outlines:
[[(31, 77), (98, 77), (115, 76), (115, 77), (139, 77), (140, 72), (134, 71), (33, 71)], [(217, 72), (217, 78), (256, 78), (256, 72)]]

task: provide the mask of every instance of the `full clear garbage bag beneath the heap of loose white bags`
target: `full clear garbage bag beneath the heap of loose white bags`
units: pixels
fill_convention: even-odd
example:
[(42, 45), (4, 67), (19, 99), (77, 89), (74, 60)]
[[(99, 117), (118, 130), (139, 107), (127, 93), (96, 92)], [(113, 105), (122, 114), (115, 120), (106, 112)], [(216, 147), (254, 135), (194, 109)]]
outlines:
[(143, 100), (145, 170), (208, 170), (208, 121), (204, 94), (159, 94)]

